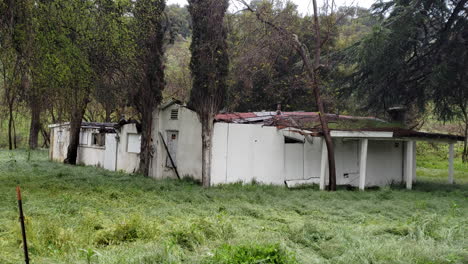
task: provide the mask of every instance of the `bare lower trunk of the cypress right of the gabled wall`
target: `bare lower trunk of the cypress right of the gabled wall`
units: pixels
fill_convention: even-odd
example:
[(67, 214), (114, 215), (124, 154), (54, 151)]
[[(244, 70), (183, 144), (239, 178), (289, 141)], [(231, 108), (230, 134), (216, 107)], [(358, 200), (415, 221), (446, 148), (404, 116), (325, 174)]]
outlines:
[(202, 184), (211, 185), (211, 146), (213, 135), (213, 117), (203, 118), (202, 122)]

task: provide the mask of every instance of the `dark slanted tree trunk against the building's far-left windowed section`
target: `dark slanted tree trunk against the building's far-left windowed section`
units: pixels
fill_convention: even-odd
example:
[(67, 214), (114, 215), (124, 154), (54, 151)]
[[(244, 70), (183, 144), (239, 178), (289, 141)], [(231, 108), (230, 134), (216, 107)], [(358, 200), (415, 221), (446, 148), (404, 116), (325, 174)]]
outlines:
[(81, 123), (83, 121), (86, 105), (82, 109), (75, 109), (70, 120), (70, 141), (67, 149), (67, 157), (63, 161), (66, 164), (76, 165), (78, 146), (80, 144)]

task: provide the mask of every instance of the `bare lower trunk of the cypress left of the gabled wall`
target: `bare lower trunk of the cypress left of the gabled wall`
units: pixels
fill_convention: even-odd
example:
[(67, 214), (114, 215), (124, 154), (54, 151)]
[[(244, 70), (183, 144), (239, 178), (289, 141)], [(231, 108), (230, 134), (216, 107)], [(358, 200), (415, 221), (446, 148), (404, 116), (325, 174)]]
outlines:
[(141, 151), (140, 151), (140, 167), (139, 171), (145, 176), (149, 176), (151, 158), (153, 157), (153, 111), (145, 109), (141, 113)]

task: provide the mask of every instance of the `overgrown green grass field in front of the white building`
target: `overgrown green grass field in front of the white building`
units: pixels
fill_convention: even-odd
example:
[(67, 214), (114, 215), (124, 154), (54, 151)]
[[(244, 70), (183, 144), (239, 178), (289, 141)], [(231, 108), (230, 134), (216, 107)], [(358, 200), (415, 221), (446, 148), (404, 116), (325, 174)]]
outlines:
[[(419, 146), (419, 145), (418, 145)], [(0, 151), (0, 263), (468, 263), (468, 167), (422, 157), (415, 190), (203, 189)]]

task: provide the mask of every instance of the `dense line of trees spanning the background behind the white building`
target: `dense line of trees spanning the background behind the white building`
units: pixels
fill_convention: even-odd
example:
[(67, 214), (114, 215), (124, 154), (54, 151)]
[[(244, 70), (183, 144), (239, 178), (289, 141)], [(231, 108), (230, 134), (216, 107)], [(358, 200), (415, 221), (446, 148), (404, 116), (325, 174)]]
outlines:
[[(249, 4), (296, 35), (314, 59), (312, 16), (285, 0)], [(466, 136), (466, 5), (392, 0), (370, 10), (324, 6), (317, 74), (325, 111), (385, 116), (394, 105), (418, 114), (431, 109), (443, 121), (462, 123)], [(73, 164), (83, 120), (126, 116), (142, 123), (145, 173), (151, 113), (164, 98), (189, 103), (208, 137), (218, 111), (273, 110), (278, 103), (283, 110), (316, 111), (294, 45), (256, 14), (229, 13), (227, 6), (212, 0), (188, 7), (163, 0), (0, 2), (0, 137), (17, 147), (16, 127), (27, 122), (28, 146), (47, 146), (46, 125), (70, 121), (67, 162)]]

